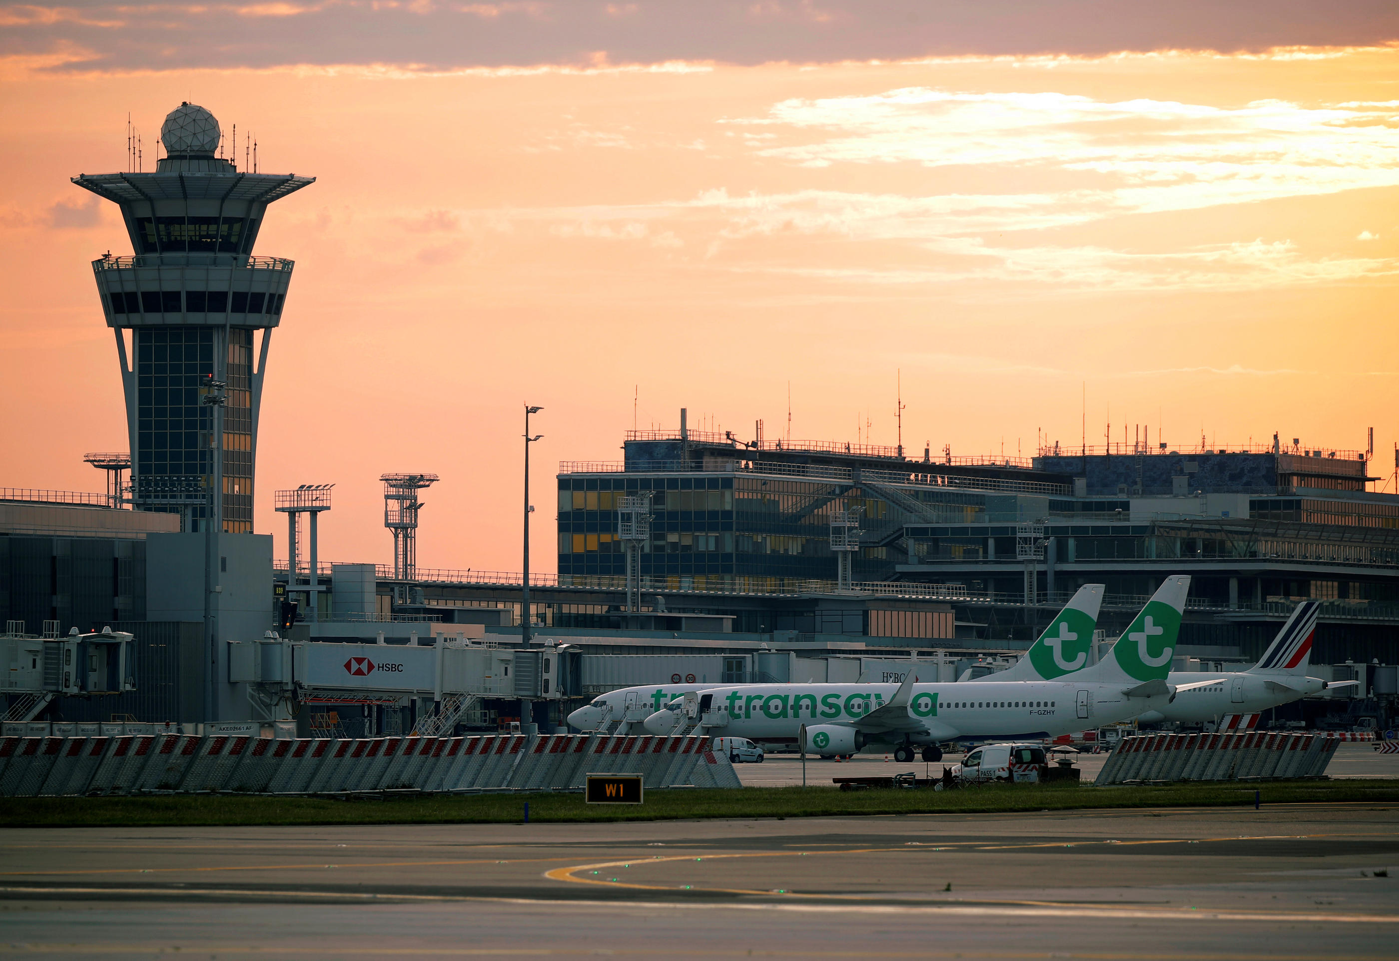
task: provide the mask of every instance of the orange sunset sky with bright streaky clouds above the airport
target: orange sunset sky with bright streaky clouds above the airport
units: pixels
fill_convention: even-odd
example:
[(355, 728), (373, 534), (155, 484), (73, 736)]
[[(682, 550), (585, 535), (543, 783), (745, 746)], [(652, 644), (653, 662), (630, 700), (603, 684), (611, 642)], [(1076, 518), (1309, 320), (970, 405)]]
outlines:
[[(623, 432), (1023, 453), (1399, 438), (1393, 3), (0, 6), (0, 485), (101, 490), (125, 449), (69, 182), (130, 113), (213, 111), (316, 183), (271, 343), (256, 529), (334, 483), (322, 557), (392, 557), (383, 471), (435, 471), (422, 567), (536, 569), (561, 460)], [(789, 386), (790, 385), (790, 386)], [(869, 427), (866, 427), (869, 424)], [(867, 432), (867, 438), (866, 438)], [(1377, 488), (1379, 485), (1377, 484)], [(1389, 490), (1393, 490), (1391, 484)]]

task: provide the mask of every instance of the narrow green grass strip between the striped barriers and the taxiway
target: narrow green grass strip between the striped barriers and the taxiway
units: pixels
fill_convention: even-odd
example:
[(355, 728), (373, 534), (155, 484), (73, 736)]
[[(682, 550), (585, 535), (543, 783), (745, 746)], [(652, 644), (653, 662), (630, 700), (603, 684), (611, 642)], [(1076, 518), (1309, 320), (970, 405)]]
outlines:
[(665, 821), (879, 814), (971, 814), (1130, 807), (1240, 807), (1262, 803), (1399, 802), (1399, 781), (1212, 782), (1090, 788), (986, 785), (964, 790), (741, 788), (652, 790), (641, 807), (586, 804), (582, 795), (422, 795), (337, 800), (259, 795), (7, 797), (0, 827), (196, 827), (269, 824), (511, 824)]

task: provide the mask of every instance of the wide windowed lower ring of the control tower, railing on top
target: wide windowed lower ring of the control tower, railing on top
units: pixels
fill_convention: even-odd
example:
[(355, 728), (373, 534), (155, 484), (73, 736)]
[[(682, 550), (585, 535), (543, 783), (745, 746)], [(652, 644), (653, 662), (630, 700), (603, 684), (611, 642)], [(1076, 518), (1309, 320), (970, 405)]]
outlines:
[(109, 327), (276, 327), (292, 262), (229, 253), (106, 256), (92, 262)]

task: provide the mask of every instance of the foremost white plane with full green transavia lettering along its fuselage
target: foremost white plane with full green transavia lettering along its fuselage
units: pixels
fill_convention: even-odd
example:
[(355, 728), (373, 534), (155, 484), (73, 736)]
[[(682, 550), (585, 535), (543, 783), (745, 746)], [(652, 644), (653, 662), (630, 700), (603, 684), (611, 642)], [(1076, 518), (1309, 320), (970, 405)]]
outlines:
[[(865, 744), (895, 746), (898, 761), (922, 747), (942, 760), (937, 744), (953, 740), (1035, 740), (1088, 725), (1114, 723), (1165, 708), (1182, 690), (1165, 683), (1188, 576), (1170, 576), (1112, 646), (1105, 660), (1060, 681), (919, 684), (750, 684), (698, 695), (701, 725), (755, 741), (796, 741), (821, 755), (853, 754)], [(1091, 629), (1090, 629), (1091, 636)], [(1213, 678), (1196, 681), (1203, 687)], [(658, 711), (646, 729), (674, 729), (676, 712)]]

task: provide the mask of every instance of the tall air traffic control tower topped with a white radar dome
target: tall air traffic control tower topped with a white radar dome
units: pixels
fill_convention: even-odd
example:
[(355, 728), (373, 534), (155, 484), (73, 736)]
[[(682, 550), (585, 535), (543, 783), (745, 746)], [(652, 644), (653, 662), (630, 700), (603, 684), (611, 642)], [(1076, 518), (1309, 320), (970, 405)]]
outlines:
[[(186, 530), (204, 530), (214, 506), (224, 532), (250, 533), (263, 371), (292, 267), (255, 257), (253, 243), (267, 204), (315, 178), (239, 171), (215, 155), (218, 120), (194, 104), (171, 111), (161, 141), (154, 173), (73, 178), (120, 206), (136, 252), (92, 262), (122, 364), (132, 502), (183, 512)], [(210, 403), (220, 393), (222, 443)]]

